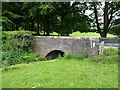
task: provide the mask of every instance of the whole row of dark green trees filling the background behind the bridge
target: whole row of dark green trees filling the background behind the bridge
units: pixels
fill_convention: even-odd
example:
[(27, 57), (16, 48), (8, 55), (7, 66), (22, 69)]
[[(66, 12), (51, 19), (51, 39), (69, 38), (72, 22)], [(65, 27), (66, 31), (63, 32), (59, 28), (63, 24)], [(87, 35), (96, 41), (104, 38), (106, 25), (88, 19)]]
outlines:
[[(96, 28), (95, 31), (106, 37), (107, 33), (103, 24), (117, 25), (119, 19), (115, 17), (120, 16), (118, 13), (120, 2), (110, 2), (109, 5), (107, 14), (99, 12), (100, 8), (106, 10), (105, 7), (102, 7), (103, 3), (101, 2), (3, 2), (2, 20), (0, 21), (3, 23), (4, 31), (14, 31), (22, 28), (35, 31), (37, 35), (40, 35), (39, 32), (43, 31), (44, 35), (47, 36), (51, 32), (57, 32), (61, 36), (69, 36), (76, 31), (89, 32), (94, 31), (91, 28)], [(94, 12), (86, 15), (87, 10)], [(109, 17), (105, 20), (106, 22), (99, 19), (99, 17), (104, 16), (103, 14)], [(118, 35), (119, 27), (115, 27), (116, 30), (109, 30), (112, 26), (108, 26), (106, 27), (107, 31)]]

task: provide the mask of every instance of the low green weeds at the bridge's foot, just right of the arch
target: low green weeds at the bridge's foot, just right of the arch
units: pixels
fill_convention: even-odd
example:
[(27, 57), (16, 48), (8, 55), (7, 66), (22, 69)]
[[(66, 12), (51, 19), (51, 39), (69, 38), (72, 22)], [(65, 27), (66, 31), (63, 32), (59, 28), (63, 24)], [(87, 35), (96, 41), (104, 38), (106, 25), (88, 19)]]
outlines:
[(64, 54), (64, 58), (83, 60), (84, 58), (86, 58), (86, 54), (85, 53), (78, 53), (78, 54), (72, 55), (70, 52), (68, 52), (68, 53)]

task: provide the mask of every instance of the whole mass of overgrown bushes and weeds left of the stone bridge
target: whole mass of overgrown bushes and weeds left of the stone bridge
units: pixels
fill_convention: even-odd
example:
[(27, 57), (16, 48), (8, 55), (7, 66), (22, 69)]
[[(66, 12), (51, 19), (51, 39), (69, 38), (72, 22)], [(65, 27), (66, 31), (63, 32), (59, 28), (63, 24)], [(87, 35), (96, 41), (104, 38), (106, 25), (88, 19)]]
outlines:
[(2, 66), (44, 60), (33, 53), (34, 38), (29, 31), (2, 32)]

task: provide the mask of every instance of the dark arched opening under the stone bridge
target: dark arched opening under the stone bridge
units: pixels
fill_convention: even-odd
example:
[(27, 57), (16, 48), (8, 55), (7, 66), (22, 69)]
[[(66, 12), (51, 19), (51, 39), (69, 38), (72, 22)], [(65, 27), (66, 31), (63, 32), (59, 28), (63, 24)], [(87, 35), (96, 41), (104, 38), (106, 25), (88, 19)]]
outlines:
[(58, 58), (59, 56), (63, 57), (64, 52), (60, 50), (53, 50), (46, 55), (47, 60)]

